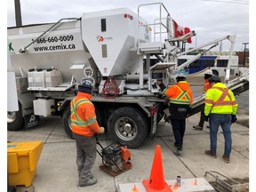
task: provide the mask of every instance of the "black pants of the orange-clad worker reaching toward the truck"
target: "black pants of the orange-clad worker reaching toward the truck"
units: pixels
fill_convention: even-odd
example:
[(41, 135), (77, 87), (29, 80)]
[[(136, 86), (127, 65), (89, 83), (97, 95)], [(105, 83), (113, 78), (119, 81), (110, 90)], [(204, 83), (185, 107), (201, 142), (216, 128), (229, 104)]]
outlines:
[(175, 146), (177, 148), (182, 148), (183, 137), (186, 129), (186, 119), (177, 119), (171, 116), (171, 124), (175, 139)]

